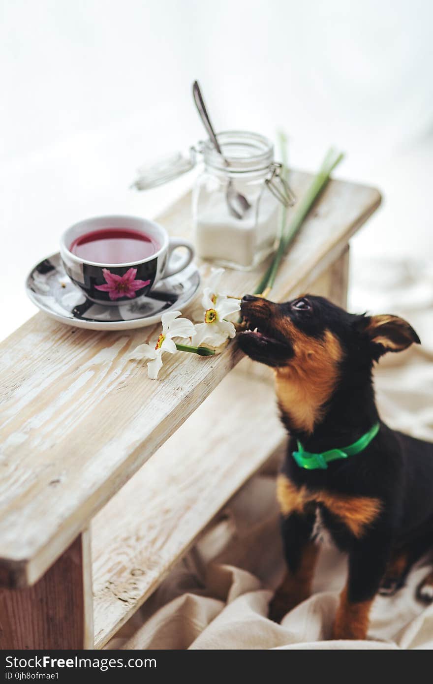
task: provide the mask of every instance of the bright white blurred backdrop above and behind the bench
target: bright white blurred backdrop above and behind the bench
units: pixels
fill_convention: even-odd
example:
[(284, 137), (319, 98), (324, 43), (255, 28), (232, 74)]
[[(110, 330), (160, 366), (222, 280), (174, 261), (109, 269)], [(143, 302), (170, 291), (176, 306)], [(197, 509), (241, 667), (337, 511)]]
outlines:
[[(217, 129), (290, 136), (293, 166), (330, 144), (338, 175), (384, 206), (365, 255), (431, 259), (429, 0), (1, 0), (0, 337), (34, 313), (23, 280), (60, 233), (101, 213), (152, 216), (191, 177), (144, 193), (135, 168)], [(374, 274), (371, 273), (371, 278)]]

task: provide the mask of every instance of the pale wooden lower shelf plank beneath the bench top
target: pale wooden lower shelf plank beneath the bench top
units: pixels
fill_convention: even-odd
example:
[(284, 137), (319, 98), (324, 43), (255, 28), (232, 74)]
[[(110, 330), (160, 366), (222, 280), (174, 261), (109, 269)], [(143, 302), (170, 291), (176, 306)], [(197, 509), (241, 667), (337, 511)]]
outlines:
[(285, 438), (272, 386), (236, 370), (107, 503), (92, 523), (96, 648)]

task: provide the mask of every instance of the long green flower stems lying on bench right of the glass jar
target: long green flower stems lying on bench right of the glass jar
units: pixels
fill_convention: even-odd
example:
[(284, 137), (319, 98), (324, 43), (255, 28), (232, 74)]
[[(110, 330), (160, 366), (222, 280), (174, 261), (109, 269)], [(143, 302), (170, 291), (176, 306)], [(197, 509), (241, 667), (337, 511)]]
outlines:
[[(285, 155), (287, 158), (287, 142), (284, 136), (280, 136), (280, 145), (283, 159), (285, 158)], [(280, 242), (278, 244), (278, 248), (276, 250), (274, 259), (272, 260), (270, 266), (267, 268), (265, 274), (263, 275), (263, 278), (261, 278), (260, 282), (258, 283), (256, 289), (254, 290), (254, 294), (262, 294), (265, 290), (269, 291), (274, 285), (281, 259), (283, 259), (285, 252), (293, 242), (293, 239), (298, 234), (298, 231), (300, 230), (302, 223), (304, 222), (306, 216), (311, 210), (311, 207), (313, 207), (313, 204), (319, 197), (319, 194), (321, 194), (324, 187), (328, 183), (331, 172), (340, 163), (344, 156), (343, 154), (338, 154), (336, 157), (336, 155), (336, 151), (332, 148), (330, 148), (330, 150), (328, 150), (328, 152), (326, 153), (324, 161), (322, 162), (322, 166), (315, 175), (306, 194), (300, 201), (296, 209), (296, 212), (293, 215), (293, 218), (289, 223), (289, 226), (287, 227), (287, 231), (284, 232), (282, 229)], [(286, 166), (284, 165), (283, 173), (285, 173), (286, 170)], [(284, 213), (282, 220), (285, 223)]]

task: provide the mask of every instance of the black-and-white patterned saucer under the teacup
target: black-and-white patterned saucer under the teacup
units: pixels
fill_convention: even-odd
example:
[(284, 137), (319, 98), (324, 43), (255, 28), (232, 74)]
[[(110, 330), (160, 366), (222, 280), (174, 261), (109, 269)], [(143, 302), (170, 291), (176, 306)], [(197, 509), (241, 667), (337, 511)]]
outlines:
[[(181, 256), (178, 257), (181, 259)], [(172, 259), (176, 259), (173, 254)], [(88, 300), (64, 271), (60, 253), (31, 269), (25, 290), (31, 301), (56, 321), (89, 330), (130, 330), (159, 323), (166, 311), (182, 311), (200, 285), (194, 263), (170, 278), (159, 280), (146, 297), (119, 306), (101, 306)]]

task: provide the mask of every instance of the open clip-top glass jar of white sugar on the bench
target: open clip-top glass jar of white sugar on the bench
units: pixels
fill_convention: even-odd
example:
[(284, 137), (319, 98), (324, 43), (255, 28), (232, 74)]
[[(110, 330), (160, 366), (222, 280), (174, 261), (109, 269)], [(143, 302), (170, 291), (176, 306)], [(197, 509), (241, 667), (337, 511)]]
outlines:
[[(278, 235), (280, 205), (293, 205), (294, 196), (274, 161), (274, 145), (248, 131), (218, 133), (221, 154), (210, 140), (190, 150), (190, 158), (172, 155), (142, 167), (137, 189), (166, 183), (196, 166), (204, 168), (194, 183), (192, 215), (198, 257), (218, 265), (250, 270), (271, 254)], [(233, 203), (240, 193), (247, 207)]]

